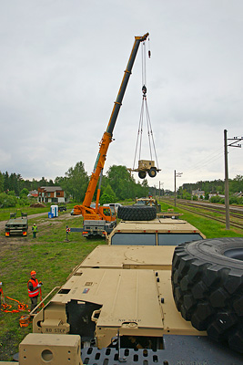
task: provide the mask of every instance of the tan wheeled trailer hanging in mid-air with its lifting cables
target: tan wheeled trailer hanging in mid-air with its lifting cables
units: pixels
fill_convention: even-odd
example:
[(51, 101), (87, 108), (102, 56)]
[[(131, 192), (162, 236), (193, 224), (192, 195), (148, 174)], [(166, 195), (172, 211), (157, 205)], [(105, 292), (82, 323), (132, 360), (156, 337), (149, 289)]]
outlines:
[[(137, 133), (137, 145), (136, 145), (136, 151), (135, 151), (135, 157), (134, 157), (134, 164), (133, 164), (132, 169), (127, 169), (127, 170), (129, 172), (138, 172), (138, 177), (140, 179), (145, 179), (147, 174), (150, 177), (155, 177), (157, 175), (157, 172), (161, 171), (161, 169), (158, 168), (156, 146), (155, 146), (155, 141), (154, 141), (154, 136), (153, 136), (153, 131), (152, 131), (151, 120), (150, 120), (148, 108), (147, 108), (145, 42), (143, 43), (142, 52), (143, 52), (142, 53), (142, 84), (143, 84), (142, 108), (141, 108), (141, 112), (140, 112), (140, 120), (139, 120), (138, 133)], [(150, 57), (150, 51), (148, 51), (148, 57)], [(144, 114), (146, 114), (145, 119), (147, 120), (147, 136), (148, 136), (148, 144), (149, 144), (149, 151), (150, 151), (150, 160), (141, 159)], [(137, 150), (138, 150), (138, 167), (135, 168), (135, 164), (137, 161)], [(152, 151), (154, 152), (155, 158), (153, 158)]]

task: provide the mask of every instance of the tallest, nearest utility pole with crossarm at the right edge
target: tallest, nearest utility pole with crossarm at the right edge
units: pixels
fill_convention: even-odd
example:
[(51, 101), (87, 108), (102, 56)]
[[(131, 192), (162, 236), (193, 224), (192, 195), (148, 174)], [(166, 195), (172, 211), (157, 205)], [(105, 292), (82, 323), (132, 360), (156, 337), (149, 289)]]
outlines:
[[(228, 194), (228, 147), (239, 147), (243, 137), (227, 138), (227, 130), (224, 130), (224, 143), (225, 143), (225, 207), (226, 207), (226, 229), (230, 228), (229, 223), (229, 194)], [(228, 141), (232, 141), (228, 144)], [(238, 143), (238, 144), (236, 144)]]

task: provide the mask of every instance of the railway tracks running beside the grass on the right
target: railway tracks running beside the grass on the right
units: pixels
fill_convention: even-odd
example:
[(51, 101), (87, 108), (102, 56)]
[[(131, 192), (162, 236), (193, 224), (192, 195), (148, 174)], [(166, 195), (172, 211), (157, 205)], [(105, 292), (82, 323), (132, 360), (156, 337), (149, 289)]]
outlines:
[[(174, 199), (163, 199), (165, 203), (174, 204)], [(220, 222), (222, 224), (226, 223), (225, 220), (225, 207), (218, 206), (218, 204), (214, 203), (201, 203), (201, 202), (188, 202), (183, 199), (177, 199), (177, 207), (186, 210), (187, 212), (191, 212), (194, 214), (202, 215), (208, 219)], [(207, 214), (207, 212), (212, 214), (224, 215), (224, 218), (220, 216), (215, 216), (211, 214)], [(238, 206), (230, 206), (229, 208), (229, 220), (230, 225), (236, 227), (238, 229), (243, 229), (243, 207)]]

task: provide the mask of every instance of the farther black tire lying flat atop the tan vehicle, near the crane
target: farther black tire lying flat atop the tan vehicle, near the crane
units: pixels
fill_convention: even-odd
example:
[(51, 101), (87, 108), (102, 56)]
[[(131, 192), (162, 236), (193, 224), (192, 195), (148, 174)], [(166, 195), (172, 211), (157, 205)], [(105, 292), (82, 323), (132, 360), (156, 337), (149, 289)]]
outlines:
[(119, 206), (117, 217), (124, 221), (151, 221), (157, 216), (157, 210), (154, 206), (136, 206), (125, 205)]

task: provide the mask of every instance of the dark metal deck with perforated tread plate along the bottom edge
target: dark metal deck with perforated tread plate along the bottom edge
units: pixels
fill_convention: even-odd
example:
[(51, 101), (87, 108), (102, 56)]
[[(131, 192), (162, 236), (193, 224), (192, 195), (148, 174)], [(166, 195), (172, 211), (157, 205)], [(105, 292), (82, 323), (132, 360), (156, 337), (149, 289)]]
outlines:
[[(164, 336), (165, 349), (121, 349), (125, 365), (242, 365), (243, 355), (224, 348), (207, 337)], [(88, 365), (121, 365), (116, 349), (84, 348), (81, 358)]]

